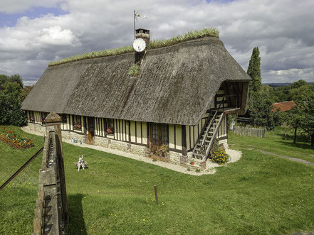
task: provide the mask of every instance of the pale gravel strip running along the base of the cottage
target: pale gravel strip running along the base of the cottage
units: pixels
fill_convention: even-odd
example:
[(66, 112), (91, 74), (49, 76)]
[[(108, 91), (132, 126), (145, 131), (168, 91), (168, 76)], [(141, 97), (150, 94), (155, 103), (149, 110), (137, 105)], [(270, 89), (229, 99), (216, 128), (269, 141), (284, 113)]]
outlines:
[[(27, 133), (32, 133), (32, 134), (37, 135), (37, 136), (43, 136), (43, 134), (41, 134), (41, 133), (37, 133), (35, 131), (29, 130), (27, 126), (22, 127), (21, 129)], [(119, 151), (117, 149), (105, 148), (105, 147), (101, 147), (101, 146), (93, 146), (93, 145), (89, 145), (89, 144), (85, 144), (85, 143), (82, 143), (82, 144), (71, 143), (70, 141), (64, 141), (64, 140), (63, 140), (63, 142), (70, 143), (70, 144), (72, 144), (74, 146), (78, 146), (78, 147), (93, 148), (93, 149), (98, 150), (98, 151), (103, 151), (103, 152), (107, 152), (107, 153), (113, 153), (116, 155), (121, 155), (125, 158), (132, 158), (134, 160), (140, 160), (140, 161), (145, 162), (145, 163), (158, 165), (162, 168), (167, 168), (169, 170), (174, 170), (174, 171), (177, 171), (179, 173), (184, 173), (184, 174), (188, 174), (188, 175), (210, 175), (210, 174), (216, 173), (216, 168), (223, 167), (223, 165), (219, 165), (217, 163), (211, 163), (211, 160), (207, 159), (206, 169), (200, 173), (197, 173), (197, 172), (192, 171), (192, 170), (187, 170), (187, 167), (183, 167), (181, 165), (164, 163), (164, 162), (159, 161), (159, 160), (153, 161), (152, 158), (145, 158), (145, 157), (142, 157), (140, 155), (135, 155), (133, 153), (126, 153), (124, 151)], [(226, 153), (231, 157), (231, 160), (229, 161), (229, 163), (236, 162), (237, 160), (239, 160), (241, 158), (241, 155), (242, 155), (242, 153), (240, 151), (235, 151), (235, 150), (231, 150), (231, 149), (226, 149)], [(88, 158), (85, 158), (85, 160), (88, 161)], [(229, 163), (227, 163), (227, 164), (229, 164)]]

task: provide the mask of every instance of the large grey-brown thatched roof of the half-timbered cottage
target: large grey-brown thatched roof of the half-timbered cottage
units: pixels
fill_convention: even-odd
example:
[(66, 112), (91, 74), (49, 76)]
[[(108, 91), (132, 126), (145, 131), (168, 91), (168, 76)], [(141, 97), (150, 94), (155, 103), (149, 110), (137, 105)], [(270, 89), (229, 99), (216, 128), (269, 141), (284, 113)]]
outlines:
[(22, 109), (196, 125), (224, 81), (250, 77), (218, 38), (147, 51), (140, 75), (134, 53), (48, 67)]

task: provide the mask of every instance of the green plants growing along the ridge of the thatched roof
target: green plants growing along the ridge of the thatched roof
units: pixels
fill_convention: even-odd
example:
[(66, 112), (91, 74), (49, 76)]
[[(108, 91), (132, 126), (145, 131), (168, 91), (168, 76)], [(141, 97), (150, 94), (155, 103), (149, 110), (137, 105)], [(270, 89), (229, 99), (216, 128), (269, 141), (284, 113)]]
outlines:
[[(178, 43), (185, 42), (187, 40), (193, 40), (197, 38), (204, 37), (216, 37), (219, 38), (219, 31), (216, 28), (204, 28), (199, 31), (190, 31), (188, 33), (184, 33), (183, 35), (177, 35), (173, 38), (169, 38), (167, 40), (152, 40), (150, 44), (147, 46), (147, 50), (155, 49), (155, 48), (163, 48), (169, 45), (175, 45)], [(111, 50), (100, 50), (90, 53), (83, 53), (82, 55), (74, 55), (69, 58), (65, 58), (63, 60), (56, 60), (49, 63), (49, 66), (65, 64), (67, 62), (73, 62), (78, 60), (92, 59), (92, 58), (101, 58), (110, 55), (120, 55), (125, 53), (134, 52), (135, 50), (132, 46), (125, 46), (122, 48), (115, 48)]]

